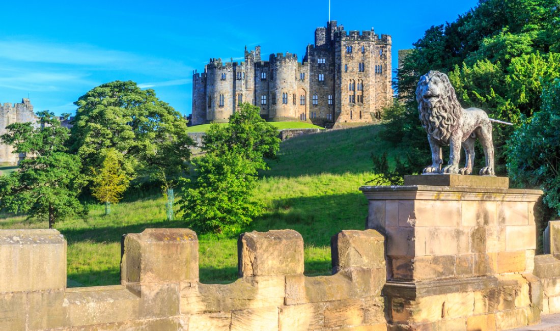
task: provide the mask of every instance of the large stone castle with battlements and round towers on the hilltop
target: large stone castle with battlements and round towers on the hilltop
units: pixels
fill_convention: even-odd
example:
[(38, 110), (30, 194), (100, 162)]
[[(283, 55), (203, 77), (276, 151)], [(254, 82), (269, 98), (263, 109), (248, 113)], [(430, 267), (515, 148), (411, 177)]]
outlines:
[(370, 123), (392, 98), (391, 36), (330, 21), (315, 30), (301, 63), (291, 53), (263, 61), (260, 46), (245, 48), (245, 62), (210, 59), (203, 73), (193, 72), (192, 124), (227, 122), (242, 102), (271, 121)]

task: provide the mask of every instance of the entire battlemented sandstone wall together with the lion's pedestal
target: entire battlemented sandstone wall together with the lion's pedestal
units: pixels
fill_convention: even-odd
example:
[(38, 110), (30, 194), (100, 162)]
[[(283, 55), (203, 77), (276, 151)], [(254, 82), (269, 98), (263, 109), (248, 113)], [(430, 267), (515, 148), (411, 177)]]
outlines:
[(121, 285), (66, 287), (56, 230), (0, 231), (5, 330), (507, 330), (560, 313), (560, 222), (535, 256), (539, 190), (507, 178), (408, 176), (362, 187), (366, 230), (332, 239), (332, 276), (304, 276), (293, 230), (239, 239), (239, 274), (200, 283), (197, 235), (123, 237)]

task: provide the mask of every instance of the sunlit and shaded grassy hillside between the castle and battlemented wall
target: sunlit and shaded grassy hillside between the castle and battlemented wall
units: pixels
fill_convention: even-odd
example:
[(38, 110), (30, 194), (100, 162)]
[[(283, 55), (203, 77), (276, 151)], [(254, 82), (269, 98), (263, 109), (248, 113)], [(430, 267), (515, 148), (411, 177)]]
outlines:
[[(281, 144), (271, 169), (260, 174), (257, 197), (267, 211), (246, 231), (294, 229), (305, 241), (305, 273), (330, 273), (330, 237), (344, 229), (363, 229), (367, 200), (358, 187), (375, 178), (370, 155), (386, 146), (374, 139), (379, 126), (370, 125), (288, 139)], [(86, 220), (60, 222), (68, 241), (68, 278), (73, 285), (119, 283), (120, 239), (148, 227), (184, 227), (165, 220), (164, 199), (145, 193), (128, 196), (103, 215), (90, 206)], [(0, 219), (0, 228), (45, 228), (22, 217)], [(200, 281), (231, 282), (237, 278), (237, 237), (199, 235)]]

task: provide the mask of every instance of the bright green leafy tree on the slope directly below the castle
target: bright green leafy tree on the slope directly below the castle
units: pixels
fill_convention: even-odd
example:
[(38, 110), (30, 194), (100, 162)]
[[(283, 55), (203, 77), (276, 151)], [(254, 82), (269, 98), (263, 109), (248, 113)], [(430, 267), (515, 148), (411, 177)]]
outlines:
[(206, 155), (193, 160), (195, 175), (184, 180), (180, 211), (198, 231), (235, 233), (263, 212), (254, 199), (258, 170), (267, 169), (280, 139), (259, 115), (259, 108), (242, 104), (230, 124), (212, 125), (204, 137)]

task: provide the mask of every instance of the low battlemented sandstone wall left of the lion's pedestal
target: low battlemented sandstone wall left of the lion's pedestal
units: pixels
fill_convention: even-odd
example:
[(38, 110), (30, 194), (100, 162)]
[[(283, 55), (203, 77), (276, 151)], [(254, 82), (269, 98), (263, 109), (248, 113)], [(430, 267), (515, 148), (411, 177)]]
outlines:
[(188, 229), (123, 238), (121, 285), (66, 288), (66, 241), (56, 230), (0, 230), (2, 330), (385, 330), (384, 239), (374, 230), (332, 239), (333, 276), (304, 276), (293, 230), (239, 239), (241, 278), (198, 281)]

